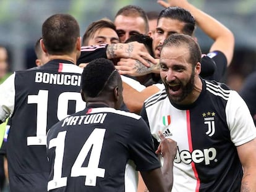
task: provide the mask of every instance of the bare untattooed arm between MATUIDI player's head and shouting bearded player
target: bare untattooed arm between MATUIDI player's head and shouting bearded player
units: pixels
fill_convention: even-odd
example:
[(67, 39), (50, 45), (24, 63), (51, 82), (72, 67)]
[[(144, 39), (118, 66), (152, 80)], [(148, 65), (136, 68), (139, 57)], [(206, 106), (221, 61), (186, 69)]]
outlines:
[(147, 98), (160, 91), (160, 89), (154, 85), (148, 86), (140, 92), (127, 83), (122, 82), (122, 85), (124, 87), (124, 90), (122, 91), (124, 103), (130, 112), (135, 112), (136, 114), (140, 113), (143, 103)]

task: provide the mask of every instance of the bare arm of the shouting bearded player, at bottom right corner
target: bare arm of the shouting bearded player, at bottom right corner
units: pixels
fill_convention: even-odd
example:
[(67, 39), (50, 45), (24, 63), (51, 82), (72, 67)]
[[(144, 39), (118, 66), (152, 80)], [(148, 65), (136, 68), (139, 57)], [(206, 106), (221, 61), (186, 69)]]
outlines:
[(238, 146), (237, 152), (244, 169), (241, 192), (256, 191), (256, 139)]

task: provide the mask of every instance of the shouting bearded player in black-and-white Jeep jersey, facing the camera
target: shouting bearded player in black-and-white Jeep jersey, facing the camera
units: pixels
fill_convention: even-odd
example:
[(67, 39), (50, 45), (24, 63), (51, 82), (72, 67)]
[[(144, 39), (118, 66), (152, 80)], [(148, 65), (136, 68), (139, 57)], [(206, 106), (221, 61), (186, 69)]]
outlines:
[(191, 36), (164, 41), (165, 89), (145, 101), (151, 134), (177, 141), (172, 191), (255, 191), (256, 129), (248, 107), (224, 83), (203, 80), (201, 51)]

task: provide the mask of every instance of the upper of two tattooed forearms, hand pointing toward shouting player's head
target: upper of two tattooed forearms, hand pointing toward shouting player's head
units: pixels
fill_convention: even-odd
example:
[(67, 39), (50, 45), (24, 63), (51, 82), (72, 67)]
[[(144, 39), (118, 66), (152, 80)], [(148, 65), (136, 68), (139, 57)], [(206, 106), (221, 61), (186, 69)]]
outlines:
[(148, 61), (156, 64), (155, 59), (150, 56), (145, 45), (138, 42), (110, 44), (106, 50), (108, 59), (127, 58), (140, 61), (143, 65), (150, 67)]

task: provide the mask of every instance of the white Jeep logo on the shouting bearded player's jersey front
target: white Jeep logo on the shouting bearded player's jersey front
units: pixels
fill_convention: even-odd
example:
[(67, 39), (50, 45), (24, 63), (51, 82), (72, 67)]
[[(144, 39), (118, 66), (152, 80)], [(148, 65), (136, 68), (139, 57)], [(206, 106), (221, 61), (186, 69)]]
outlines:
[(195, 149), (194, 151), (190, 152), (187, 150), (179, 151), (178, 147), (174, 162), (177, 164), (181, 162), (184, 162), (184, 164), (190, 164), (193, 161), (195, 164), (204, 162), (205, 165), (209, 165), (211, 161), (218, 161), (215, 159), (216, 154), (217, 152), (215, 148), (208, 148), (203, 150)]

